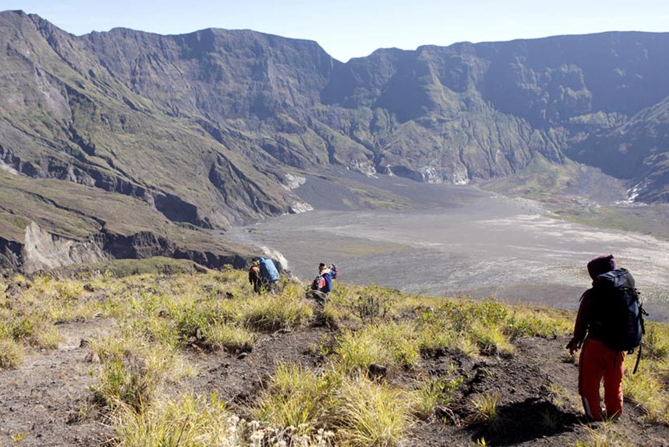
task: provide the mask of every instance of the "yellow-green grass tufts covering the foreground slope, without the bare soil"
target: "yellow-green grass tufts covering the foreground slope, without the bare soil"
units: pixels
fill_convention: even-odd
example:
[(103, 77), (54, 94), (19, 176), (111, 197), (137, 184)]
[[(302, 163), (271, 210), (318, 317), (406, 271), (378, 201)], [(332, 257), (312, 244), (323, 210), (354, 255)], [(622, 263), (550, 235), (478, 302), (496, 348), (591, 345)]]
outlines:
[[(57, 349), (56, 323), (116, 321), (115, 333), (90, 341), (99, 359), (91, 370), (91, 391), (112, 418), (120, 446), (401, 445), (415, 420), (432, 420), (435, 408), (448, 407), (462, 384), (456, 374), (423, 377), (425, 357), (444, 350), (512, 355), (518, 337), (554, 337), (573, 322), (573, 315), (562, 311), (492, 299), (420, 297), (343, 284), (316, 312), (304, 299), (303, 285), (286, 283), (280, 293), (258, 296), (246, 274), (232, 270), (122, 278), (17, 276), (7, 283), (22, 291), (20, 299), (0, 294), (2, 369), (19, 365), (25, 349)], [(179, 389), (169, 384), (197, 374), (185, 360), (194, 345), (248, 351), (264, 332), (316, 318), (349, 329), (317, 348), (323, 361), (318, 369), (277, 365), (252, 405), (257, 421), (244, 422), (215, 396), (168, 395)], [(642, 370), (624, 384), (626, 395), (652, 422), (669, 421), (666, 330), (650, 326)], [(387, 378), (369, 378), (372, 363), (387, 367)], [(415, 380), (393, 385), (407, 376)], [(472, 400), (470, 422), (502, 426), (497, 403), (494, 395)], [(606, 444), (583, 444), (589, 445)]]

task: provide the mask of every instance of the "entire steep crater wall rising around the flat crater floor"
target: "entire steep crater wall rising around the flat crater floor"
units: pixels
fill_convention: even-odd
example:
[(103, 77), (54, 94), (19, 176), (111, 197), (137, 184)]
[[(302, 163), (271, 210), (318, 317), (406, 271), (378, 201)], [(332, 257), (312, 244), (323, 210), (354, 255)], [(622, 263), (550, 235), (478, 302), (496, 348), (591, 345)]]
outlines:
[[(669, 199), (669, 33), (379, 49), (341, 63), (315, 42), (254, 31), (76, 37), (5, 11), (0, 39), (0, 181), (120, 194), (194, 231), (308, 210), (290, 170), (327, 165), (466, 184), (541, 155), (624, 178), (636, 200)], [(0, 237), (17, 243), (31, 211), (7, 200)], [(152, 247), (172, 247), (154, 233)], [(3, 259), (19, 262), (8, 244)]]

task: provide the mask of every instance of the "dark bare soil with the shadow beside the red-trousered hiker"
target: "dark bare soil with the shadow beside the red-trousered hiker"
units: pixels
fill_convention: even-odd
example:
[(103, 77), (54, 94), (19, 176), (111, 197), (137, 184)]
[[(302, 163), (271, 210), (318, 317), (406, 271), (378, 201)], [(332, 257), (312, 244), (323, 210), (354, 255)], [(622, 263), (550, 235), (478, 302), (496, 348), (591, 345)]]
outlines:
[[(446, 355), (427, 361), (432, 371), (458, 365), (466, 380), (454, 416), (460, 428), (441, 422), (421, 422), (413, 431), (419, 446), (472, 446), (484, 438), (490, 446), (573, 446), (588, 440), (577, 394), (577, 365), (566, 361), (567, 339), (525, 338), (516, 343), (513, 357), (467, 359)], [(502, 428), (468, 425), (475, 396), (496, 394)], [(450, 417), (450, 415), (447, 415)], [(625, 413), (613, 428), (619, 445), (669, 446), (669, 428), (643, 420), (643, 412), (626, 402)], [(618, 444), (617, 444), (618, 445)]]

